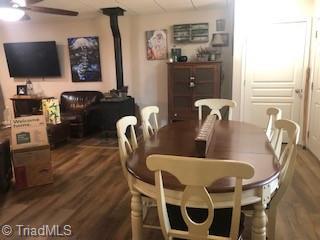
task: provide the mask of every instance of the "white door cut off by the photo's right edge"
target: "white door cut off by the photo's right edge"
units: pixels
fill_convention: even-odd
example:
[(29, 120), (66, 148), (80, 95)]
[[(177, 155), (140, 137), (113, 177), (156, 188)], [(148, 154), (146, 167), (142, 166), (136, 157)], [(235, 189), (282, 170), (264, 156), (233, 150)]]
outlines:
[[(320, 18), (317, 19), (316, 29), (320, 30)], [(311, 93), (310, 125), (309, 125), (309, 149), (320, 159), (320, 37), (315, 39), (311, 49), (314, 52), (314, 64), (312, 67), (313, 90)]]

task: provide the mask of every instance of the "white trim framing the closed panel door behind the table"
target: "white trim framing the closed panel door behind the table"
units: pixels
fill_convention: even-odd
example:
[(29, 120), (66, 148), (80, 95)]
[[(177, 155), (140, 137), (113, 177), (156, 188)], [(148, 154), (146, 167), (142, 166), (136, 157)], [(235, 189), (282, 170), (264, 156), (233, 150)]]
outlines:
[[(272, 20), (270, 21), (270, 23), (292, 23), (292, 22), (306, 22), (307, 24), (307, 32), (306, 32), (306, 46), (305, 46), (305, 57), (303, 60), (303, 79), (301, 82), (301, 88), (303, 89), (303, 98), (301, 100), (301, 108), (300, 108), (300, 113), (299, 113), (299, 122), (298, 124), (300, 126), (303, 126), (304, 122), (303, 122), (303, 112), (304, 112), (304, 98), (305, 98), (305, 82), (306, 82), (306, 77), (307, 77), (307, 69), (310, 66), (310, 39), (311, 39), (311, 30), (312, 30), (312, 17), (297, 17), (297, 18), (280, 18), (280, 19), (276, 19), (276, 20)], [(244, 119), (244, 105), (245, 105), (245, 90), (246, 90), (246, 86), (245, 86), (245, 76), (246, 76), (246, 50), (247, 50), (247, 42), (248, 42), (248, 31), (247, 31), (247, 35), (246, 37), (244, 37), (242, 39), (242, 46), (238, 52), (238, 54), (241, 54), (241, 61), (240, 61), (240, 74), (239, 72), (235, 72), (234, 69), (234, 79), (233, 79), (233, 85), (235, 85), (234, 83), (239, 81), (240, 82), (240, 96), (239, 96), (239, 91), (238, 91), (238, 96), (235, 93), (236, 89), (233, 89), (233, 99), (237, 100), (240, 98), (240, 121), (243, 121)], [(241, 44), (241, 43), (240, 43)], [(234, 64), (239, 64), (236, 63), (234, 61)], [(239, 67), (239, 65), (237, 65)], [(238, 85), (239, 86), (239, 85)], [(239, 100), (238, 100), (239, 101)], [(309, 104), (310, 105), (310, 104)], [(303, 129), (303, 128), (301, 128)], [(305, 128), (307, 129), (307, 128)], [(301, 135), (300, 134), (300, 139), (301, 139)]]

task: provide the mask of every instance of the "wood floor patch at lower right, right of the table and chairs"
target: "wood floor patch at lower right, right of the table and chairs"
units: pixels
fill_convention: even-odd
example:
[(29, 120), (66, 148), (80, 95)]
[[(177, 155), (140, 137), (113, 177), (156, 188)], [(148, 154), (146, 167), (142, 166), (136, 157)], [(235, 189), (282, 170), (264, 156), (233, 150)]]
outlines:
[(320, 239), (320, 162), (300, 149), (293, 181), (279, 205), (277, 239)]

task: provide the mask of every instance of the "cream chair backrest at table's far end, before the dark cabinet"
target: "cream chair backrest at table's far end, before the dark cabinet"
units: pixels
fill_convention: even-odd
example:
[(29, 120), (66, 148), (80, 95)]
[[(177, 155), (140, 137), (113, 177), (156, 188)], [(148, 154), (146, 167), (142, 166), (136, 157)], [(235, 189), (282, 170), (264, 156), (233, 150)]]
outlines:
[(237, 103), (230, 99), (219, 99), (219, 98), (206, 98), (199, 99), (195, 101), (194, 106), (198, 107), (198, 116), (199, 120), (202, 120), (202, 106), (207, 106), (211, 109), (210, 115), (217, 115), (218, 119), (221, 120), (222, 116), (220, 113), (220, 109), (223, 107), (229, 107), (229, 115), (228, 119), (232, 119), (232, 109), (237, 106)]

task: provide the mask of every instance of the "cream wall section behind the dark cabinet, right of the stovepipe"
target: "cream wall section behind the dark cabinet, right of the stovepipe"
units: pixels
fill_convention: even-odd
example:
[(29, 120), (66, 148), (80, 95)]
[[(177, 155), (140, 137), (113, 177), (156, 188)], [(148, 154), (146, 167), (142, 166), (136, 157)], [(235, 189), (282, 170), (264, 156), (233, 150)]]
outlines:
[[(168, 101), (167, 101), (167, 60), (147, 60), (146, 58), (146, 37), (145, 31), (167, 29), (168, 32), (168, 50), (174, 46), (172, 41), (172, 25), (183, 23), (209, 23), (210, 40), (215, 29), (215, 21), (219, 18), (225, 18), (225, 9), (202, 10), (192, 12), (166, 13), (149, 16), (134, 17), (132, 33), (132, 77), (134, 78), (134, 96), (140, 106), (157, 104), (160, 107), (161, 124), (167, 121)], [(230, 21), (226, 20), (226, 32), (230, 31)], [(230, 36), (231, 38), (231, 36)], [(187, 55), (190, 59), (196, 53), (199, 46), (208, 46), (205, 44), (176, 44), (182, 49), (182, 55)], [(231, 96), (231, 74), (232, 74), (232, 55), (231, 44), (223, 49), (223, 54), (229, 56), (228, 62), (223, 62), (225, 68), (225, 80), (222, 82), (223, 96)]]

